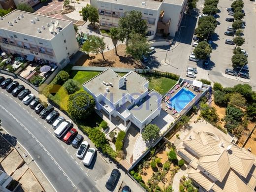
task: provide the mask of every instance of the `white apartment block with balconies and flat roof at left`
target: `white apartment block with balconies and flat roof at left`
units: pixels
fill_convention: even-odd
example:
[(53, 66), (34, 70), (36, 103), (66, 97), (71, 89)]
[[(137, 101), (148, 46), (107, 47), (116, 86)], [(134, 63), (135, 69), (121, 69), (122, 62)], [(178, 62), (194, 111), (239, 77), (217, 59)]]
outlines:
[(14, 10), (0, 18), (0, 47), (63, 68), (78, 51), (72, 21)]

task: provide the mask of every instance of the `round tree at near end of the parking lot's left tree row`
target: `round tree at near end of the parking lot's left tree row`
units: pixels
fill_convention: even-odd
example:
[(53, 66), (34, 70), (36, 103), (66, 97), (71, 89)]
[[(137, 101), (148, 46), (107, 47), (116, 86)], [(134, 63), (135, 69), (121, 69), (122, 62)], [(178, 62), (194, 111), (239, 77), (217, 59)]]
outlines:
[(206, 41), (200, 41), (193, 53), (196, 58), (205, 60), (212, 53), (212, 47)]

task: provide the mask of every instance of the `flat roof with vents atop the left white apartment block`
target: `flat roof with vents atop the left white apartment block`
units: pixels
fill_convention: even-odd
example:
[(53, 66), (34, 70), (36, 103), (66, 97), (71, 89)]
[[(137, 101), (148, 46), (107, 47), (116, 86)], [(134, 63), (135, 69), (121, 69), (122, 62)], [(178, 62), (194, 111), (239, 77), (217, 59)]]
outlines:
[[(23, 15), (23, 17), (21, 16), (21, 14)], [(37, 17), (39, 21), (37, 21), (35, 17)], [(16, 20), (16, 23), (14, 22), (14, 20)], [(31, 23), (31, 20), (34, 20), (35, 23)], [(59, 20), (59, 27), (62, 29), (72, 23), (72, 21), (67, 21), (64, 19), (56, 19), (53, 17), (38, 15), (15, 9), (2, 17), (2, 20), (0, 20), (0, 29), (50, 40), (55, 37), (55, 35), (49, 32), (49, 27), (47, 27), (47, 23), (51, 26), (51, 21), (55, 23), (57, 20)], [(12, 26), (9, 25), (8, 22), (11, 22)], [(42, 29), (42, 26), (44, 26), (45, 29)], [(41, 32), (38, 32), (37, 29), (40, 29)], [(57, 32), (54, 24), (53, 29), (55, 32)]]

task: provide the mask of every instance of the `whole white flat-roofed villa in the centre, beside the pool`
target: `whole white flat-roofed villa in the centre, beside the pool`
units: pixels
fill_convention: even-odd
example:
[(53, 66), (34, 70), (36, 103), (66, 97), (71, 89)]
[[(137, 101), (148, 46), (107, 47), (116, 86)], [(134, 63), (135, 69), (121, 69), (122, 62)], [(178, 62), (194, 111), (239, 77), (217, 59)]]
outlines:
[(110, 68), (83, 84), (101, 111), (118, 128), (127, 131), (131, 123), (142, 131), (160, 115), (162, 96), (148, 91), (149, 81), (130, 71), (121, 77)]

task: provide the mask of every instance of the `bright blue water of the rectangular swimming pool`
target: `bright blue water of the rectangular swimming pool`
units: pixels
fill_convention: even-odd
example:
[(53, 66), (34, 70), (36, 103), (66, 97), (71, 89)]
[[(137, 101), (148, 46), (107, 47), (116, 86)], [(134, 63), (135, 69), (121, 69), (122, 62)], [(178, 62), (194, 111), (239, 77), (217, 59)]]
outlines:
[(169, 105), (180, 113), (194, 97), (195, 94), (183, 87), (177, 94), (169, 99)]

